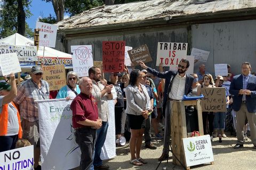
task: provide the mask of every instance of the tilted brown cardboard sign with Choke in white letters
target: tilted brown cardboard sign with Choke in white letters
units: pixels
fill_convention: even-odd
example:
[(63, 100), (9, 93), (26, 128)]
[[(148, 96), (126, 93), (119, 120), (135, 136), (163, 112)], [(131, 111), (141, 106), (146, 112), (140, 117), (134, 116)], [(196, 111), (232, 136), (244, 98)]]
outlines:
[(131, 62), (134, 65), (140, 65), (139, 61), (142, 61), (143, 63), (148, 63), (152, 61), (146, 44), (129, 50), (128, 54), (130, 56)]

